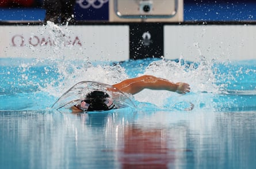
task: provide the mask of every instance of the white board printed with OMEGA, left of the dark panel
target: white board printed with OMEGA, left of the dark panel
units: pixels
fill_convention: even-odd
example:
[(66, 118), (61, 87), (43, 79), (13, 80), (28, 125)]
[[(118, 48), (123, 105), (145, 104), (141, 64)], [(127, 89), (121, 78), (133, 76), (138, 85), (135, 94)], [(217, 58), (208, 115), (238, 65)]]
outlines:
[(129, 59), (129, 26), (0, 26), (0, 57)]

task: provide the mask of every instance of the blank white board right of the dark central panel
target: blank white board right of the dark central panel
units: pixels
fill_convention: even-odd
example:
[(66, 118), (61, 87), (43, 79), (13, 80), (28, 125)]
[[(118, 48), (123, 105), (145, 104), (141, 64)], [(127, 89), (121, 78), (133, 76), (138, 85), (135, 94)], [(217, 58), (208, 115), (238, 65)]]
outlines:
[(256, 59), (256, 25), (165, 25), (164, 56), (185, 60)]

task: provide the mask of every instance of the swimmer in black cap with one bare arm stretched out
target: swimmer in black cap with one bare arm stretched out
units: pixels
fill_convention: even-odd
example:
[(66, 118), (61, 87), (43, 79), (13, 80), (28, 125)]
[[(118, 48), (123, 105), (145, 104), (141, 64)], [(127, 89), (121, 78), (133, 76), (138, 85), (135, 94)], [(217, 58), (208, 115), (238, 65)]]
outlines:
[[(157, 78), (151, 75), (143, 75), (137, 78), (123, 80), (120, 83), (112, 85), (124, 93), (136, 94), (143, 89), (167, 90), (185, 94), (190, 92), (188, 83), (173, 83), (167, 79)], [(72, 106), (72, 113), (81, 113), (86, 111), (101, 111), (114, 109), (114, 103), (110, 96), (103, 91), (92, 91), (86, 95), (78, 105)]]

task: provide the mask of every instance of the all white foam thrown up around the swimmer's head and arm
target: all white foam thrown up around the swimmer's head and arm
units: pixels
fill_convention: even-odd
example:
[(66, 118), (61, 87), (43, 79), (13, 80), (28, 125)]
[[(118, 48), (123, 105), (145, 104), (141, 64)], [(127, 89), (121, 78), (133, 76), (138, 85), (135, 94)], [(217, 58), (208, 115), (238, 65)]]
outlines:
[[(70, 57), (66, 57), (68, 53), (63, 53), (62, 49), (67, 47), (65, 45), (65, 41), (67, 40), (66, 35), (71, 32), (69, 32), (67, 28), (59, 28), (52, 23), (48, 23), (43, 29), (42, 33), (52, 34), (51, 37), (58, 44), (55, 46), (54, 51), (52, 51), (52, 54), (55, 55), (55, 57), (52, 58), (55, 59), (53, 60), (50, 58), (49, 60), (56, 64), (56, 71), (59, 74), (59, 77), (57, 85), (56, 82), (51, 82), (47, 84), (47, 87), (44, 87), (41, 90), (47, 91), (55, 97), (59, 97), (75, 83), (83, 80), (114, 84), (128, 78), (128, 75), (125, 72), (126, 70), (119, 65), (109, 66), (108, 62), (98, 62), (100, 64), (93, 64), (86, 58), (80, 60), (66, 59)], [(220, 86), (216, 85), (215, 74), (212, 70), (215, 61), (205, 59), (204, 56), (201, 55), (198, 44), (195, 45), (200, 53), (197, 58), (199, 64), (190, 64), (188, 67), (188, 65), (181, 64), (181, 62), (176, 63), (163, 59), (152, 62), (143, 74), (158, 76), (175, 83), (189, 83), (192, 93), (202, 93), (205, 91), (208, 93), (217, 93)], [(56, 57), (56, 55), (58, 56)], [(143, 90), (141, 93), (135, 95), (135, 99), (140, 102), (154, 103), (161, 107), (164, 106), (166, 100), (172, 96), (178, 98), (177, 100), (180, 101), (187, 100), (189, 102), (189, 99), (195, 101), (194, 98), (187, 97), (186, 95), (179, 95), (177, 93), (171, 93), (170, 91), (152, 90)], [(196, 102), (200, 103), (200, 98), (197, 99)]]

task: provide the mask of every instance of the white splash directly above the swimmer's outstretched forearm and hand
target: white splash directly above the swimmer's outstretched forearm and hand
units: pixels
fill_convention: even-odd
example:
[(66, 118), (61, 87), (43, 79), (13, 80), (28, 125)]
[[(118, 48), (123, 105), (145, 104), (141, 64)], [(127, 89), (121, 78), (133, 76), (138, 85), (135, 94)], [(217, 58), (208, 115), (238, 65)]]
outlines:
[(212, 71), (214, 63), (204, 62), (181, 64), (171, 60), (160, 60), (152, 62), (145, 71), (145, 74), (159, 76), (172, 82), (186, 82), (192, 87), (193, 92), (217, 93), (219, 86), (216, 85), (215, 74)]

